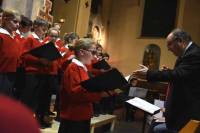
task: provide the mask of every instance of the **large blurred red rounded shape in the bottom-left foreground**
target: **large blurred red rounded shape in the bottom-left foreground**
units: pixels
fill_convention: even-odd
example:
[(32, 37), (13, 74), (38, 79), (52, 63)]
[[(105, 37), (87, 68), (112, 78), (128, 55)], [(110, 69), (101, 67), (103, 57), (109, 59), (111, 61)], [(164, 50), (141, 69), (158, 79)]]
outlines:
[(24, 105), (0, 96), (1, 133), (40, 133), (33, 113)]

